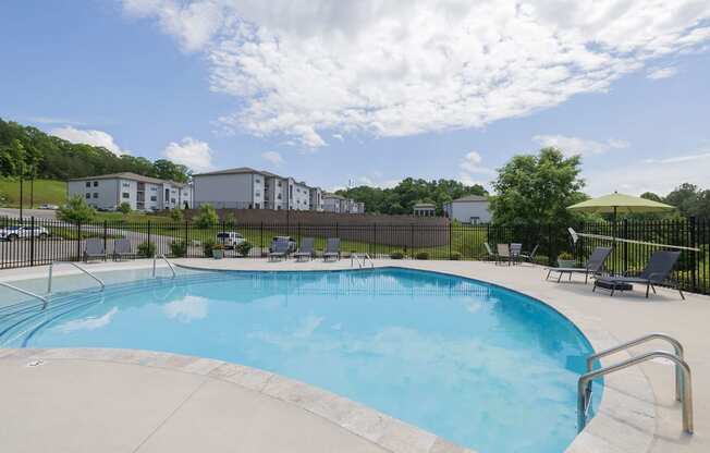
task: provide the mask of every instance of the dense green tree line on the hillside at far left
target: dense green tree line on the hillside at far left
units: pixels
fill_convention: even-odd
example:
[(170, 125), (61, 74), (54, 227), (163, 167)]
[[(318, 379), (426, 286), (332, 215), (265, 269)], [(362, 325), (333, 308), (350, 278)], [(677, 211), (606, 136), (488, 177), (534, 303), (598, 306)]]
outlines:
[(71, 143), (37, 127), (0, 119), (0, 176), (65, 181), (119, 172), (178, 182), (189, 179), (185, 166), (170, 160), (117, 156), (103, 147)]

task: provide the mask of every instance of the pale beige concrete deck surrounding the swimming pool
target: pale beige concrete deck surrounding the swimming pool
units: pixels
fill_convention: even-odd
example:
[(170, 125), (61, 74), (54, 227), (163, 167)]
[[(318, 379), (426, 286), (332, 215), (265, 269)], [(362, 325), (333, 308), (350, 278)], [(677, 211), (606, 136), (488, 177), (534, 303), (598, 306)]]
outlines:
[[(322, 261), (293, 262), (292, 260), (268, 262), (258, 259), (175, 259), (173, 262), (191, 268), (215, 270), (351, 269), (350, 259), (330, 264), (323, 264)], [(695, 434), (685, 434), (681, 428), (680, 404), (674, 401), (673, 367), (664, 360), (653, 360), (608, 377), (598, 415), (567, 451), (611, 453), (710, 451), (710, 440), (708, 439), (708, 432), (710, 432), (710, 354), (708, 353), (710, 351), (710, 335), (707, 334), (707, 325), (710, 320), (710, 297), (687, 294), (687, 301), (683, 302), (677, 292), (660, 289), (659, 294), (651, 296), (649, 299), (644, 298), (640, 291), (616, 295), (612, 298), (608, 293), (592, 293), (591, 285), (585, 285), (579, 279), (559, 284), (552, 281), (546, 282), (543, 269), (529, 265), (511, 268), (478, 261), (405, 260), (376, 260), (375, 264), (378, 267), (396, 266), (475, 278), (539, 298), (575, 322), (590, 340), (595, 350), (598, 351), (656, 331), (666, 332), (675, 336), (684, 344), (686, 360), (693, 369)], [(96, 264), (90, 265), (90, 269), (100, 271), (105, 269), (133, 269), (135, 267), (147, 268), (150, 266), (151, 261), (143, 260), (137, 262)], [(78, 271), (68, 268), (62, 270), (61, 273), (56, 273), (56, 276), (75, 272)], [(0, 280), (16, 281), (40, 278), (46, 274), (47, 270), (41, 268), (3, 270), (0, 271)], [(90, 284), (90, 282), (87, 282), (87, 284)], [(646, 346), (638, 346), (632, 353), (637, 355), (657, 348), (668, 350), (668, 346), (653, 342)], [(414, 429), (406, 424), (390, 419), (359, 405), (356, 406), (370, 415), (377, 414), (377, 417), (387, 417), (388, 420), (391, 420), (388, 423), (393, 424), (393, 431), (387, 436), (382, 431), (377, 431), (376, 434), (369, 434), (368, 437), (367, 425), (360, 427), (365, 429), (365, 431), (360, 431), (360, 428), (353, 428), (353, 425), (341, 424), (343, 417), (342, 406), (340, 406), (341, 412), (339, 412), (326, 404), (322, 407), (327, 408), (320, 409), (321, 412), (328, 412), (323, 416), (308, 407), (298, 405), (298, 402), (307, 402), (307, 397), (295, 397), (295, 402), (293, 401), (294, 397), (286, 397), (285, 400), (278, 400), (280, 403), (276, 404), (272, 401), (272, 395), (268, 393), (260, 392), (256, 396), (252, 394), (255, 392), (254, 389), (242, 388), (240, 390), (240, 385), (235, 385), (236, 392), (229, 390), (229, 385), (225, 385), (221, 378), (210, 376), (209, 371), (205, 375), (197, 374), (197, 377), (195, 377), (194, 374), (186, 372), (180, 367), (167, 370), (164, 367), (156, 366), (156, 363), (181, 363), (181, 360), (188, 360), (188, 358), (175, 360), (146, 358), (143, 362), (134, 358), (128, 359), (126, 363), (113, 356), (113, 358), (107, 358), (108, 353), (106, 351), (118, 350), (65, 350), (64, 352), (62, 350), (0, 350), (0, 355), (4, 354), (4, 357), (0, 359), (0, 372), (2, 372), (3, 377), (7, 377), (7, 379), (3, 379), (7, 384), (0, 391), (0, 397), (8, 403), (2, 405), (0, 416), (7, 420), (12, 418), (10, 417), (11, 414), (22, 414), (22, 411), (27, 411), (22, 417), (17, 415), (13, 417), (32, 420), (23, 425), (8, 426), (5, 424), (5, 426), (0, 427), (2, 431), (0, 438), (12, 442), (9, 443), (10, 445), (17, 446), (17, 449), (10, 449), (11, 451), (44, 451), (46, 449), (41, 449), (39, 444), (34, 450), (22, 449), (22, 442), (28, 439), (39, 441), (35, 438), (42, 437), (51, 438), (52, 450), (60, 451), (61, 449), (58, 448), (60, 444), (76, 446), (76, 443), (71, 442), (77, 442), (87, 436), (105, 442), (103, 445), (107, 448), (94, 444), (94, 449), (87, 449), (86, 451), (234, 451), (240, 449), (244, 451), (283, 451), (280, 445), (284, 444), (289, 445), (286, 449), (289, 451), (461, 451), (461, 449), (448, 444), (433, 434)], [(148, 357), (169, 356), (145, 352), (132, 352), (131, 354), (124, 352), (122, 355), (119, 354), (118, 357), (131, 357), (132, 354), (148, 354)], [(621, 353), (603, 359), (602, 364), (610, 365), (627, 357), (628, 354)], [(36, 358), (42, 358), (45, 360), (44, 365), (27, 367), (27, 364)], [(192, 358), (192, 360), (197, 359)], [(205, 362), (206, 359), (199, 360)], [(86, 372), (82, 371), (84, 368), (87, 368)], [(147, 368), (147, 371), (136, 370), (144, 368)], [(109, 372), (108, 369), (112, 371)], [(156, 369), (159, 369), (159, 371)], [(35, 374), (32, 380), (23, 378), (23, 374), (27, 371)], [(146, 372), (145, 379), (139, 377), (144, 372)], [(182, 381), (189, 380), (184, 377), (186, 374), (193, 376), (191, 378), (194, 379), (193, 383), (198, 385), (197, 390), (194, 390), (194, 394), (186, 393), (192, 395), (189, 397), (185, 396), (184, 392), (180, 393), (180, 389), (183, 389), (181, 387), (183, 385)], [(103, 382), (103, 385), (101, 385), (100, 380), (90, 381), (94, 377), (103, 375), (106, 375), (105, 379), (113, 377), (112, 380), (109, 379), (108, 381), (113, 382), (113, 385), (108, 385), (113, 393), (101, 391), (102, 388), (107, 387), (108, 382)], [(125, 379), (123, 379), (124, 375)], [(279, 377), (279, 379), (283, 378)], [(212, 383), (212, 380), (219, 382)], [(87, 381), (85, 385), (82, 384), (84, 381)], [(62, 382), (71, 384), (62, 385)], [(162, 418), (156, 415), (156, 418), (151, 420), (152, 425), (143, 416), (134, 417), (132, 411), (135, 411), (136, 414), (151, 414), (150, 408), (154, 405), (150, 399), (144, 401), (138, 397), (134, 400), (122, 397), (122, 394), (130, 393), (128, 389), (132, 385), (145, 385), (145, 388), (142, 387), (140, 389), (144, 392), (149, 392), (150, 388), (160, 392), (174, 391), (174, 394), (172, 396), (167, 395), (166, 400), (173, 405), (179, 404), (178, 408), (174, 408), (173, 412), (168, 411), (168, 416), (162, 414)], [(308, 385), (299, 383), (295, 383), (295, 385), (299, 385), (301, 391), (306, 393), (320, 392)], [(22, 391), (17, 392), (17, 389)], [(48, 404), (54, 399), (66, 397), (68, 401), (73, 401), (72, 397), (86, 397), (86, 389), (95, 389), (97, 397), (90, 400), (94, 403), (83, 404), (84, 417), (89, 421), (99, 420), (95, 423), (100, 423), (102, 419), (113, 420), (110, 425), (114, 425), (114, 429), (108, 429), (106, 432), (90, 429), (72, 431), (70, 427), (81, 425), (76, 420), (68, 426), (60, 423), (68, 417), (66, 406), (62, 406), (60, 403)], [(201, 394), (204, 389), (208, 389), (205, 395)], [(13, 396), (23, 394), (23, 391), (24, 397)], [(200, 406), (200, 401), (209, 400), (209, 392), (219, 393), (217, 400), (225, 399), (227, 401), (236, 402), (244, 399), (244, 401), (250, 401), (252, 406), (236, 404), (237, 408), (234, 408), (232, 406), (235, 406), (235, 404), (224, 407), (217, 403)], [(244, 396), (243, 392), (252, 393)], [(193, 404), (191, 401), (194, 396), (198, 397)], [(254, 399), (249, 400), (248, 397), (252, 396)], [(335, 395), (331, 397), (338, 399)], [(320, 402), (327, 401), (327, 399), (322, 397), (316, 400)], [(342, 403), (342, 400), (344, 399), (339, 401)], [(36, 405), (23, 407), (23, 404), (27, 405), (26, 401), (34, 402)], [(121, 407), (118, 407), (115, 413), (111, 411), (112, 405), (122, 406), (131, 401), (135, 404), (132, 411), (125, 409), (122, 413), (118, 411)], [(313, 404), (313, 402), (304, 404)], [(242, 414), (240, 414), (238, 407), (261, 407), (262, 405), (265, 407), (264, 417), (254, 417), (253, 426), (244, 434), (238, 430), (238, 426), (234, 426), (238, 425), (238, 423), (227, 423), (229, 419), (240, 420), (241, 416), (246, 416), (244, 414), (249, 416), (254, 414), (252, 409), (246, 409), (245, 413), (242, 411)], [(49, 406), (49, 411), (42, 406)], [(169, 404), (166, 406), (169, 406)], [(34, 411), (30, 412), (28, 407), (34, 407)], [(192, 413), (189, 412), (191, 408)], [(10, 413), (2, 414), (4, 411)], [(77, 411), (77, 413), (82, 413), (82, 411)], [(348, 411), (346, 409), (345, 413), (348, 413)], [(191, 416), (191, 414), (193, 415)], [(72, 413), (70, 415), (75, 416), (76, 414)], [(213, 420), (213, 423), (207, 423), (206, 420)], [(274, 420), (278, 421), (274, 423)], [(121, 429), (115, 427), (118, 421), (122, 424), (118, 427)], [(145, 425), (139, 426), (140, 423), (145, 423)], [(283, 437), (281, 437), (280, 432), (284, 424), (293, 424), (293, 426), (299, 428), (293, 431), (283, 428)], [(274, 426), (278, 426), (279, 429), (274, 430)], [(132, 427), (136, 427), (136, 432), (142, 432), (144, 438), (142, 439), (138, 434), (130, 438), (127, 430), (134, 429)], [(147, 433), (140, 431), (139, 428)], [(53, 431), (51, 436), (48, 429)], [(98, 436), (97, 432), (102, 432), (102, 434)], [(308, 434), (304, 436), (304, 432), (308, 432)], [(83, 440), (88, 442), (88, 438)], [(122, 439), (128, 438), (134, 440), (133, 448), (122, 444), (122, 449), (108, 449), (108, 446), (113, 445), (111, 442), (120, 443)], [(155, 440), (152, 440), (154, 438)], [(189, 438), (189, 441), (183, 438)], [(135, 439), (138, 439), (138, 441), (135, 441)], [(199, 442), (199, 439), (203, 439), (201, 442), (204, 443), (191, 443)], [(220, 441), (220, 439), (222, 440)], [(287, 443), (278, 443), (283, 439), (287, 439)], [(157, 443), (158, 441), (166, 443)], [(256, 442), (271, 443), (259, 444)], [(333, 448), (335, 444), (336, 448)], [(157, 450), (150, 450), (151, 448)], [(82, 451), (78, 448), (66, 448), (65, 450)]]

